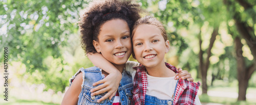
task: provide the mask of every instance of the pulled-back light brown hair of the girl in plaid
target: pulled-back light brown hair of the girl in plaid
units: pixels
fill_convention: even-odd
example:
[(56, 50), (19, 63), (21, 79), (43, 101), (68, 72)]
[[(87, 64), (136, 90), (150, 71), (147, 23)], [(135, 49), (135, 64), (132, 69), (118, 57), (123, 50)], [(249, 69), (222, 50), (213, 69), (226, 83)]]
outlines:
[(145, 16), (143, 18), (140, 18), (139, 20), (137, 20), (134, 23), (132, 38), (134, 36), (134, 33), (135, 33), (137, 27), (141, 24), (149, 24), (149, 25), (154, 25), (154, 26), (158, 27), (161, 30), (161, 34), (163, 36), (164, 41), (167, 41), (167, 34), (166, 34), (166, 30), (164, 28), (163, 23), (160, 22), (159, 20), (157, 20), (155, 17), (152, 17), (152, 16)]

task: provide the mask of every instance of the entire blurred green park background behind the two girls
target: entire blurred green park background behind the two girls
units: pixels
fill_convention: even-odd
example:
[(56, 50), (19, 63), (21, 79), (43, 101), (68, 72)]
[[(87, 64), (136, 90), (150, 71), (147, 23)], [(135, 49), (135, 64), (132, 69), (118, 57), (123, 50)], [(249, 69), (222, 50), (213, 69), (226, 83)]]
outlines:
[[(69, 79), (80, 67), (93, 66), (79, 45), (77, 24), (90, 2), (0, 0), (1, 104), (61, 103)], [(256, 104), (255, 0), (135, 2), (166, 25), (172, 46), (166, 61), (201, 82), (202, 103)]]

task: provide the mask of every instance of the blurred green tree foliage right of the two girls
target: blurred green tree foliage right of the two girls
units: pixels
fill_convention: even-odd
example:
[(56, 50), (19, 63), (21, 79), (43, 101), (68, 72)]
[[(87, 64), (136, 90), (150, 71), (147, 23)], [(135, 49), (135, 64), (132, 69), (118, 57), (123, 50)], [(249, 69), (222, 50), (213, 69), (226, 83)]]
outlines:
[[(230, 36), (232, 38), (240, 36), (233, 16), (239, 17), (249, 26), (255, 28), (255, 1), (245, 1), (249, 4), (249, 9), (245, 9), (238, 1), (235, 0), (203, 0), (203, 1), (139, 1), (151, 15), (161, 20), (165, 25), (172, 49), (170, 55), (179, 57), (179, 66), (188, 71), (199, 68), (199, 41), (198, 34), (202, 35), (203, 52), (206, 52), (211, 37), (211, 30), (220, 27), (219, 37), (211, 50), (212, 56), (218, 57), (217, 62), (210, 58), (209, 78), (215, 80), (228, 80), (233, 82), (237, 79), (237, 62), (236, 51), (234, 51), (233, 43), (227, 45), (225, 39)], [(228, 5), (227, 5), (228, 4)], [(223, 25), (226, 24), (226, 25)], [(199, 32), (198, 30), (201, 30)], [(254, 29), (255, 30), (255, 29)], [(226, 33), (223, 33), (226, 31)], [(254, 31), (255, 33), (255, 31)], [(205, 45), (206, 44), (206, 45)], [(221, 48), (220, 44), (222, 44)], [(246, 44), (245, 44), (246, 45)], [(222, 52), (223, 51), (223, 52)], [(244, 56), (244, 55), (243, 55)], [(203, 55), (206, 58), (205, 55)], [(168, 58), (167, 58), (168, 59)], [(250, 65), (253, 61), (246, 60), (246, 65)], [(198, 72), (199, 73), (199, 72)], [(212, 77), (212, 76), (214, 77)], [(213, 80), (214, 81), (214, 80)]]

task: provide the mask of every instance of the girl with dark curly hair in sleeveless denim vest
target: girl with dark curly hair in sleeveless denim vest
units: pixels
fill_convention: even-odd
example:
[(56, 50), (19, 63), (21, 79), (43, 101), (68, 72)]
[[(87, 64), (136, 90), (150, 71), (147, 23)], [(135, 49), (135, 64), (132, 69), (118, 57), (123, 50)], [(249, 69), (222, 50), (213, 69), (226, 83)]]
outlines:
[[(131, 104), (133, 81), (125, 71), (125, 62), (132, 53), (130, 29), (140, 18), (140, 12), (140, 6), (131, 1), (94, 1), (89, 4), (79, 21), (81, 46), (86, 53), (101, 53), (118, 71), (107, 71), (104, 67), (102, 70), (97, 66), (80, 68), (70, 80), (70, 88), (61, 104)], [(116, 79), (113, 83), (108, 81), (100, 85), (104, 87), (101, 91), (108, 92), (91, 95), (90, 90), (96, 87), (93, 83), (108, 77)], [(119, 96), (102, 100), (113, 92), (115, 94), (118, 86)]]

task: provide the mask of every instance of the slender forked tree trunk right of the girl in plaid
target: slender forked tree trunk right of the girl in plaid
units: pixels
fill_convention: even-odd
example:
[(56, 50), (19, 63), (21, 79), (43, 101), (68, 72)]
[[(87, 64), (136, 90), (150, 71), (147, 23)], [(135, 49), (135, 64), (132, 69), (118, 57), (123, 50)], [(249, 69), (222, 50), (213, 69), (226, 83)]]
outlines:
[(201, 32), (200, 32), (200, 38), (199, 38), (199, 45), (200, 45), (200, 51), (199, 51), (199, 59), (200, 59), (200, 64), (199, 64), (199, 69), (201, 71), (201, 76), (202, 76), (202, 89), (203, 89), (203, 94), (207, 93), (207, 71), (209, 68), (210, 64), (210, 56), (211, 56), (211, 48), (214, 46), (214, 42), (216, 40), (216, 36), (218, 35), (219, 27), (215, 27), (214, 31), (211, 34), (210, 38), (210, 44), (209, 48), (207, 49), (207, 58), (204, 63), (203, 61), (203, 51), (202, 51), (202, 40), (201, 40)]

